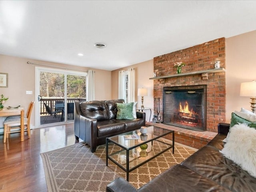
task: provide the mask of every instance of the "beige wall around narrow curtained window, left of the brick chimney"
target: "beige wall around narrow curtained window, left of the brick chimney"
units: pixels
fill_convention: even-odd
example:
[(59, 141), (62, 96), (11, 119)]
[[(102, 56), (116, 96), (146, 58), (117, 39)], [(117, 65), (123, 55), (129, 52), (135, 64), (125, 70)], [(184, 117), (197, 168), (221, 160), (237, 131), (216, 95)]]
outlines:
[[(151, 120), (154, 114), (154, 95), (153, 95), (153, 86), (154, 80), (150, 80), (149, 78), (153, 77), (153, 59), (148, 60), (142, 63), (138, 63), (135, 65), (131, 65), (126, 68), (120, 68), (118, 70), (112, 71), (112, 99), (118, 98), (118, 71), (127, 70), (128, 68), (135, 68), (135, 98), (138, 101), (137, 106), (141, 106), (141, 97), (137, 96), (138, 88), (147, 88), (148, 96), (144, 96), (144, 107), (151, 108), (152, 115)], [(149, 121), (150, 110), (144, 110), (146, 112), (146, 120)]]

